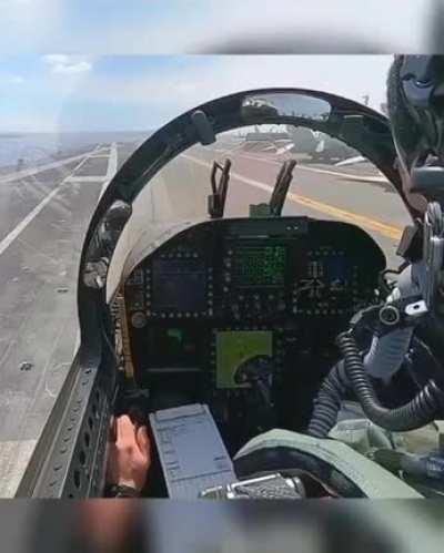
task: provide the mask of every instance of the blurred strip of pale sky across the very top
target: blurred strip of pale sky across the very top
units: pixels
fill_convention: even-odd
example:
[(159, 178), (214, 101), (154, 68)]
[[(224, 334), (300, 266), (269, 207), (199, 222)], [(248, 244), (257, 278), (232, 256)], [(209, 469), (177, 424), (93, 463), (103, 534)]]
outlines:
[(230, 41), (284, 37), (285, 51), (292, 42), (313, 51), (327, 41), (324, 51), (416, 53), (430, 44), (442, 6), (442, 0), (0, 0), (0, 52), (216, 53)]

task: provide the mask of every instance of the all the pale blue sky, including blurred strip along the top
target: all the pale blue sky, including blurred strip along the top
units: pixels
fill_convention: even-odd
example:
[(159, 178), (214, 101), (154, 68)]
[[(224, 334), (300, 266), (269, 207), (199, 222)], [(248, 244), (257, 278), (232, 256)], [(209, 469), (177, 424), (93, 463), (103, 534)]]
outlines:
[[(440, 7), (444, 24), (443, 0), (0, 0), (0, 132), (144, 131), (269, 85), (380, 109), (387, 54), (427, 51)], [(213, 55), (264, 50), (332, 54)]]

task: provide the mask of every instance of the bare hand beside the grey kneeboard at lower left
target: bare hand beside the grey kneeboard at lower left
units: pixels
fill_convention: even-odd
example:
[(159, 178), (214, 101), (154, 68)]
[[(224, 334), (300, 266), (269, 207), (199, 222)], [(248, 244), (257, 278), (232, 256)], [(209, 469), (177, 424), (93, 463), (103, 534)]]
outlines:
[(137, 427), (124, 414), (117, 420), (115, 442), (110, 444), (107, 481), (138, 492), (147, 481), (151, 447), (147, 427)]

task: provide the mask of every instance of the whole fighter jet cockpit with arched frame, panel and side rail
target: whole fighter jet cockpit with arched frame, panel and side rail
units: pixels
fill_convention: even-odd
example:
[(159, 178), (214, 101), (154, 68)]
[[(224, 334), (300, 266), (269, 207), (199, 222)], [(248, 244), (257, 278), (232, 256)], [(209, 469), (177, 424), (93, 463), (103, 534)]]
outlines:
[[(320, 164), (301, 129), (354, 163)], [(121, 413), (150, 429), (145, 496), (436, 493), (420, 471), (443, 391), (418, 216), (386, 117), (350, 100), (248, 91), (168, 123), (91, 221), (79, 351), (21, 494), (102, 496)]]

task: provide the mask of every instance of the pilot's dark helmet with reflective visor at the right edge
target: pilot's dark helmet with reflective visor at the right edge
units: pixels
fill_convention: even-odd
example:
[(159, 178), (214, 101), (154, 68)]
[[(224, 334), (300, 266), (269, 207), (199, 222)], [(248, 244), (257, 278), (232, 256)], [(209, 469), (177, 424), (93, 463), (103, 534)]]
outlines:
[(411, 194), (414, 167), (444, 166), (444, 55), (396, 55), (387, 80), (387, 110), (410, 204), (424, 211), (422, 196)]

